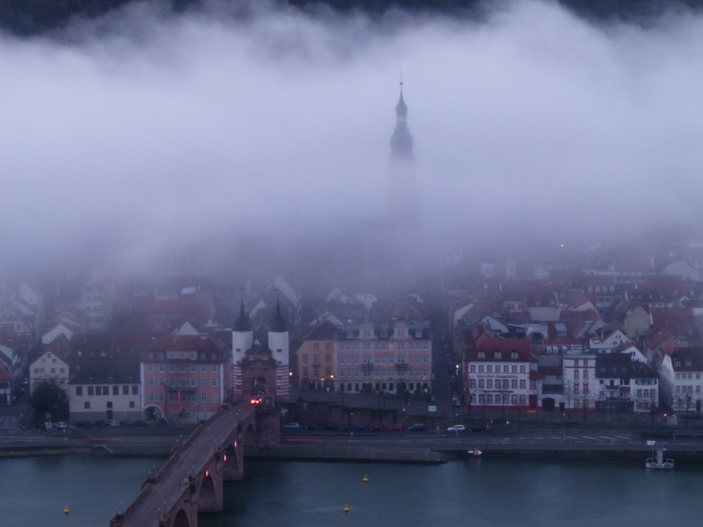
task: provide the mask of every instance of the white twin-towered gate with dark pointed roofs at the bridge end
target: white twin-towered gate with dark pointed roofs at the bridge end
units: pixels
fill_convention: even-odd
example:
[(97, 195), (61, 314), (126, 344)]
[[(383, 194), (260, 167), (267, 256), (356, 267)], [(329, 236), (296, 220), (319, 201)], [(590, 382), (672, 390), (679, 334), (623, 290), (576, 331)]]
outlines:
[(290, 391), (288, 323), (280, 302), (269, 321), (268, 346), (254, 341), (252, 321), (242, 299), (239, 317), (232, 326), (233, 399), (281, 401)]

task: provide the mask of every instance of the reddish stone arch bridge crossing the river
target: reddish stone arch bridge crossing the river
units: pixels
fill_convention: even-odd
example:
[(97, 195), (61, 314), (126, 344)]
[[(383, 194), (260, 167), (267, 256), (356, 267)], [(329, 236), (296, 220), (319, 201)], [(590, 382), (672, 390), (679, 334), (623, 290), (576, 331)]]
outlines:
[(244, 448), (280, 445), (278, 410), (224, 405), (198, 425), (110, 527), (195, 527), (199, 512), (220, 512), (224, 481), (244, 477)]

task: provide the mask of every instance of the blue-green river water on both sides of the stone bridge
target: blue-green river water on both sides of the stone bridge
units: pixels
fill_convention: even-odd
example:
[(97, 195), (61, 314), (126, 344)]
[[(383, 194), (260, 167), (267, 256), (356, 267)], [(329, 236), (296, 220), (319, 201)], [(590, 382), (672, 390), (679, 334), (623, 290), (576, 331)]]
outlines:
[[(165, 460), (0, 460), (3, 527), (108, 526)], [(247, 460), (226, 483), (225, 510), (201, 527), (588, 526), (697, 524), (703, 467), (468, 460), (439, 466)], [(368, 474), (368, 483), (363, 483)], [(344, 514), (349, 504), (351, 511)], [(63, 507), (70, 514), (63, 514)]]

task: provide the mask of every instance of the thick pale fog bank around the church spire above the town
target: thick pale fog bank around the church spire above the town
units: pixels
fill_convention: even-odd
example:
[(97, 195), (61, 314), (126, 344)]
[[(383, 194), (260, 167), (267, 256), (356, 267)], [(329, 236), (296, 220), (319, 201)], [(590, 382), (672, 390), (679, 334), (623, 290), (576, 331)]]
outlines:
[(700, 15), (131, 4), (0, 36), (4, 259), (134, 265), (281, 222), (382, 216), (401, 70), (428, 238), (700, 223)]

